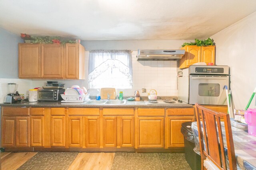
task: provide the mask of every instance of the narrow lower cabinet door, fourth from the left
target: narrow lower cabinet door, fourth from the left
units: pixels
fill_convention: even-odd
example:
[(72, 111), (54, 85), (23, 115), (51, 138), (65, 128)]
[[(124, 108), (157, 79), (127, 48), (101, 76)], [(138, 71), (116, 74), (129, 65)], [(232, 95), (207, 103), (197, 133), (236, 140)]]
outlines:
[(51, 119), (52, 147), (65, 147), (65, 116), (52, 116)]

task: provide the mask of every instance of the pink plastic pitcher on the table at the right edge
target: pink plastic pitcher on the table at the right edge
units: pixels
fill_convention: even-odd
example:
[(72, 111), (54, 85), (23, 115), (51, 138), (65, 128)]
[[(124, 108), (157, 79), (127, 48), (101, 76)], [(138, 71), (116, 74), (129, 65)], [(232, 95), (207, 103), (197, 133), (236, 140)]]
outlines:
[(248, 124), (248, 133), (256, 137), (256, 109), (247, 109), (244, 119)]

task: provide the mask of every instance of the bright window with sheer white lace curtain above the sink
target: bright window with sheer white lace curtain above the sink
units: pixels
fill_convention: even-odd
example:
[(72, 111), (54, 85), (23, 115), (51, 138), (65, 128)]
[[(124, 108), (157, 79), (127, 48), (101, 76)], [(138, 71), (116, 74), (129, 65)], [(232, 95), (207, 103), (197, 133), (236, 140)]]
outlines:
[(88, 79), (89, 88), (132, 88), (132, 52), (90, 51)]

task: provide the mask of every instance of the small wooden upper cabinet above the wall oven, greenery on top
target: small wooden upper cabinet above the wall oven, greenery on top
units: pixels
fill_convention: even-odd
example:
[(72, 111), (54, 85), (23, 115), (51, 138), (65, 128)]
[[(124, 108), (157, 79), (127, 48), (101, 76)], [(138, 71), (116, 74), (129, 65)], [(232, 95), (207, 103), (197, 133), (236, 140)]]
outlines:
[(199, 62), (213, 63), (215, 65), (215, 45), (202, 47), (186, 45), (182, 49), (186, 52), (182, 59), (179, 60), (180, 69), (188, 68), (190, 65)]

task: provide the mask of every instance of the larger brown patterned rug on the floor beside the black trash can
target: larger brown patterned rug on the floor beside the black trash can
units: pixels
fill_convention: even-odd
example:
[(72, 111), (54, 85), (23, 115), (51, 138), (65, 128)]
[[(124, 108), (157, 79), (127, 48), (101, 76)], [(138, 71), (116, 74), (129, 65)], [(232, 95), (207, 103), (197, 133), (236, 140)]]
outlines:
[(184, 153), (116, 152), (112, 170), (191, 170)]

